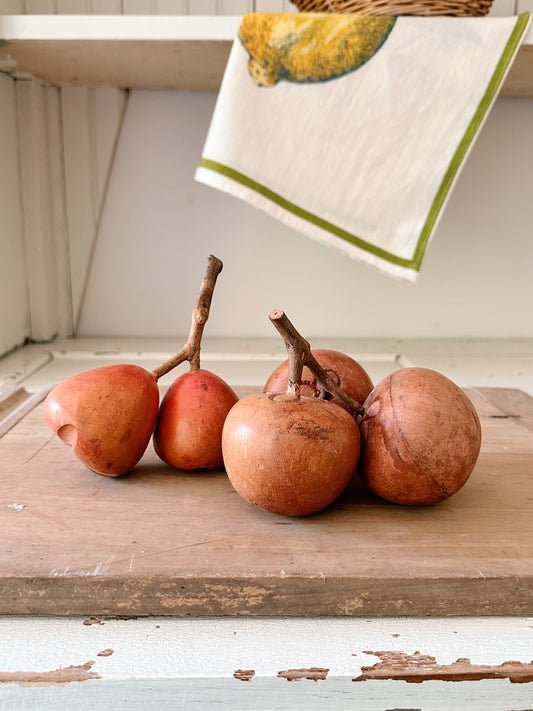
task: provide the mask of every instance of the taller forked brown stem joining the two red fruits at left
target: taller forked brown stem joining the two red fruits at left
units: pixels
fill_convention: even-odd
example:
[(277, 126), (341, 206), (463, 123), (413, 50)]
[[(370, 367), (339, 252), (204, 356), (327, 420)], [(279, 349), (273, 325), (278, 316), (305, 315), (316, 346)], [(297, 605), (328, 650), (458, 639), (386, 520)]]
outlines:
[(155, 380), (159, 380), (162, 375), (165, 375), (180, 363), (188, 360), (191, 371), (200, 369), (200, 348), (202, 343), (202, 334), (204, 326), (209, 318), (209, 309), (213, 298), (213, 291), (217, 277), (222, 271), (222, 262), (212, 254), (207, 258), (207, 266), (205, 269), (204, 278), (200, 286), (200, 293), (196, 299), (192, 311), (191, 330), (187, 342), (172, 358), (169, 358), (164, 363), (152, 371)]

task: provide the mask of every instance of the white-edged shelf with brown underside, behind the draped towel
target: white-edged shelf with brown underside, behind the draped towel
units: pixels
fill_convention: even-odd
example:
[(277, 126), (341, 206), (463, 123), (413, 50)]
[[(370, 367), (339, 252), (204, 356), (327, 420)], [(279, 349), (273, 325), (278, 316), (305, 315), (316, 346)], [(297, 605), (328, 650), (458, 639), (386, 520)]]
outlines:
[[(216, 91), (238, 16), (0, 15), (0, 70), (49, 84)], [(533, 96), (533, 27), (502, 94)]]

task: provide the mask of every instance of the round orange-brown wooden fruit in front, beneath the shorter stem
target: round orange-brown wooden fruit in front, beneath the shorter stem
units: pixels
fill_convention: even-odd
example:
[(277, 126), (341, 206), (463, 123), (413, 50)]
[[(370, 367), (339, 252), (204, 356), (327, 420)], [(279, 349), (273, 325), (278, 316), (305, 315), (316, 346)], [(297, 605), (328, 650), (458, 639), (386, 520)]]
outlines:
[(222, 433), (235, 490), (254, 506), (285, 516), (331, 504), (354, 474), (359, 449), (359, 430), (346, 410), (290, 393), (242, 398)]

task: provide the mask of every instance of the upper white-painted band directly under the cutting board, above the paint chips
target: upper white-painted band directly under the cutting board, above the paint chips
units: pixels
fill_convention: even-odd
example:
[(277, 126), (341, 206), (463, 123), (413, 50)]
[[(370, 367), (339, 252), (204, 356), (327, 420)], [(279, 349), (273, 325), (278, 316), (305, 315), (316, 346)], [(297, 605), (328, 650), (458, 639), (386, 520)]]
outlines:
[[(533, 653), (533, 617), (150, 617), (84, 625), (86, 619), (0, 617), (0, 672), (43, 672), (94, 659), (93, 670), (104, 679), (231, 678), (237, 669), (277, 677), (310, 667), (351, 679), (379, 661), (365, 650), (420, 651), (438, 664), (467, 657), (488, 665), (528, 663)], [(97, 657), (108, 648), (113, 655)]]

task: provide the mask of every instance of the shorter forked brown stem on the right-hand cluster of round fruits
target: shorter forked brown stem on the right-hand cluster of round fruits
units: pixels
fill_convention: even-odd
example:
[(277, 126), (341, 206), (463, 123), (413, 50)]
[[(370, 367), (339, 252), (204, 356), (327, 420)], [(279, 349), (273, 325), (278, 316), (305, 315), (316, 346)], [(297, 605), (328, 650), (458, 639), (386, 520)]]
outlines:
[(288, 392), (295, 395), (300, 394), (300, 384), (302, 381), (302, 371), (307, 366), (313, 373), (320, 385), (320, 397), (324, 398), (326, 393), (333, 395), (340, 400), (350, 410), (352, 415), (363, 415), (363, 406), (354, 400), (348, 393), (345, 393), (337, 383), (330, 377), (328, 372), (322, 368), (320, 363), (311, 353), (311, 346), (308, 341), (301, 336), (287, 318), (284, 311), (275, 309), (268, 315), (281, 337), (285, 341), (285, 347), (289, 356), (289, 387)]

